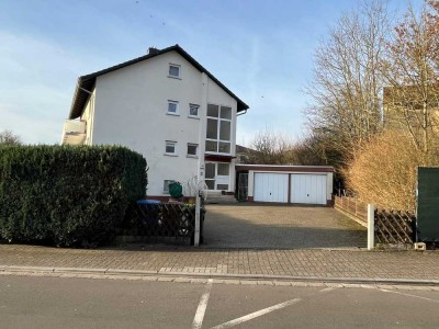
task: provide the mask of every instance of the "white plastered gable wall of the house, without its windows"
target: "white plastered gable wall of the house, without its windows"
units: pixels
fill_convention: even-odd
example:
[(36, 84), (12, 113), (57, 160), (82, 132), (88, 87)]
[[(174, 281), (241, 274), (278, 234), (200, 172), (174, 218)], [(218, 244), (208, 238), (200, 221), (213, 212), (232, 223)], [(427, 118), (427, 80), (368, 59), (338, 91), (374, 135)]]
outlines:
[[(169, 64), (180, 65), (181, 79), (168, 77)], [(164, 180), (184, 184), (196, 175), (204, 159), (207, 103), (233, 107), (235, 149), (236, 100), (177, 52), (100, 76), (95, 90), (92, 144), (117, 144), (143, 154), (149, 167), (149, 196), (164, 195)], [(178, 101), (178, 115), (167, 113), (168, 100)], [(189, 117), (189, 104), (200, 105), (200, 118)], [(165, 155), (166, 140), (177, 141), (176, 156)], [(199, 144), (200, 159), (187, 156), (188, 143)]]

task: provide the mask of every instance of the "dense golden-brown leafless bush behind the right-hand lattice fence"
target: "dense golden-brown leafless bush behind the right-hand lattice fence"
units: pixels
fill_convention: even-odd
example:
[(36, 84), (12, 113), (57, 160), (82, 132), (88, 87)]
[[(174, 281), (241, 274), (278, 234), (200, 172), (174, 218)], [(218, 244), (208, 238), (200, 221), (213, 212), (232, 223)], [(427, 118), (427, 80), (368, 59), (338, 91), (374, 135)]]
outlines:
[(361, 147), (345, 175), (359, 198), (389, 209), (416, 207), (418, 166), (437, 166), (437, 157), (427, 157), (402, 131), (387, 131)]

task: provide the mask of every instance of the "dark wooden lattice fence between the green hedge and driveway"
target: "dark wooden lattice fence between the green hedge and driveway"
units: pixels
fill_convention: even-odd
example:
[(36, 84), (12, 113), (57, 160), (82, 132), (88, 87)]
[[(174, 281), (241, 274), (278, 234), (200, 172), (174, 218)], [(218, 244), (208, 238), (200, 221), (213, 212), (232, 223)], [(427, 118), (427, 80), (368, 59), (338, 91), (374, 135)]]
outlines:
[[(159, 203), (138, 204), (138, 220), (143, 235), (147, 237), (175, 237), (191, 240), (195, 232), (195, 205)], [(200, 242), (203, 242), (203, 224), (205, 209), (200, 212)]]

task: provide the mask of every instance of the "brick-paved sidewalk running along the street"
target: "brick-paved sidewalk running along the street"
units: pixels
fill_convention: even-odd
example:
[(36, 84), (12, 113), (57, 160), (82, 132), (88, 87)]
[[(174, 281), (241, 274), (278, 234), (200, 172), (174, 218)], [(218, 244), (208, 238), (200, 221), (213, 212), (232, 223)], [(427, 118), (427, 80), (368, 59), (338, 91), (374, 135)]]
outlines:
[(0, 245), (0, 272), (40, 270), (439, 285), (438, 251), (144, 248), (83, 250)]

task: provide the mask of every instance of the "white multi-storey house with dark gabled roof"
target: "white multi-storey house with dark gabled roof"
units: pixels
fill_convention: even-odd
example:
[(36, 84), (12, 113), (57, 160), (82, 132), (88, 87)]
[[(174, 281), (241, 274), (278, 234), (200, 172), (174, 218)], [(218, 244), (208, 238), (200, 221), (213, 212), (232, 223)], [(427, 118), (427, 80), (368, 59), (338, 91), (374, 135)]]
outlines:
[(235, 191), (236, 118), (248, 105), (179, 45), (79, 77), (63, 144), (122, 145), (148, 163), (148, 197), (204, 179)]

